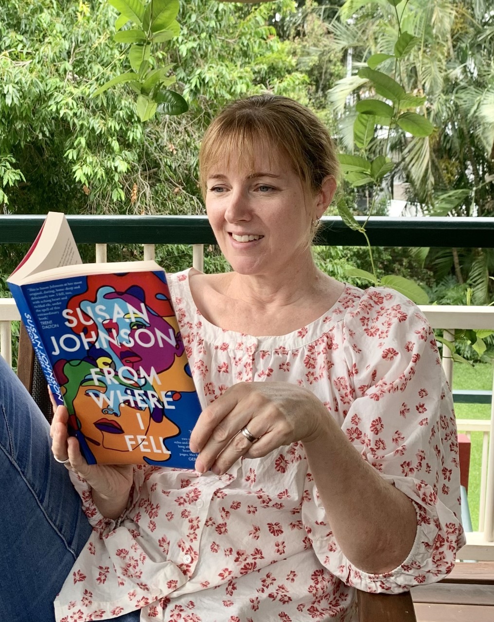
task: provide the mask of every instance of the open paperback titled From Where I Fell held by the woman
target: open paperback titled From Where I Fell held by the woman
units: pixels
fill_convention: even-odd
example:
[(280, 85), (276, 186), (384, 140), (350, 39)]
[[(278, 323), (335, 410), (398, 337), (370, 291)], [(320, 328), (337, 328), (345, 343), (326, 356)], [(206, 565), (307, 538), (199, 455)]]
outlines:
[(89, 464), (193, 468), (201, 412), (164, 269), (83, 264), (50, 212), (7, 284)]

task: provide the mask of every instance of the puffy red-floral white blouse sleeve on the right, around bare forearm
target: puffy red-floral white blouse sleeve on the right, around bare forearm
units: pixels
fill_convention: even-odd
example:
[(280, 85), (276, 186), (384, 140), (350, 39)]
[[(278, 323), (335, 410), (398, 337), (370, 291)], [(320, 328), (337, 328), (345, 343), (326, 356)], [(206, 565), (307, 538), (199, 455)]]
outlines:
[(396, 292), (371, 288), (345, 318), (348, 374), (333, 383), (343, 432), (362, 458), (412, 501), (414, 544), (403, 564), (370, 574), (332, 537), (310, 474), (302, 508), (320, 562), (366, 592), (402, 592), (452, 570), (465, 543), (460, 522), (457, 430), (436, 340), (421, 311)]

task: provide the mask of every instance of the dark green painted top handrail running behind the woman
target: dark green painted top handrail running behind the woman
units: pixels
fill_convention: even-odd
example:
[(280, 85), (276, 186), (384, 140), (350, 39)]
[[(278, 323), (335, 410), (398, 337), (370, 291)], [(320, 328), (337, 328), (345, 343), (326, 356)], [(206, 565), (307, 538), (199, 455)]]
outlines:
[[(214, 244), (206, 216), (67, 216), (78, 243)], [(0, 243), (30, 243), (44, 216), (0, 215)], [(363, 223), (364, 216), (357, 221)], [(338, 216), (324, 216), (317, 243), (365, 246), (358, 231)], [(494, 248), (494, 218), (372, 217), (366, 231), (373, 246)]]

